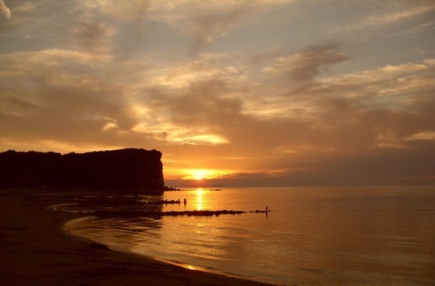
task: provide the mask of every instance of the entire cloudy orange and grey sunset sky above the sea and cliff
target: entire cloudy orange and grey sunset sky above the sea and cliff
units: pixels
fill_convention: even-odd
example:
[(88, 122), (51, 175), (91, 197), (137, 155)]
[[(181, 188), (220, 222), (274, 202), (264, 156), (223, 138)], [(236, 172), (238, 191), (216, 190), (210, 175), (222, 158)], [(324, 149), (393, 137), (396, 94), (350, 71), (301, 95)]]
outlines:
[(0, 151), (167, 186), (435, 184), (435, 1), (0, 0)]

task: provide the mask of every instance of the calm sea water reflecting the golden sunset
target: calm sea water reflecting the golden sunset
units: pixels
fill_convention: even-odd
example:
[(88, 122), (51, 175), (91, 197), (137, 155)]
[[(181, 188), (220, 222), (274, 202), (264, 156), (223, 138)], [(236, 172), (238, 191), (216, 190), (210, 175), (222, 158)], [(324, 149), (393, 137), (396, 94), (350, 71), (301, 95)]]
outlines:
[(435, 284), (435, 187), (166, 192), (171, 210), (266, 214), (88, 219), (70, 231), (113, 249), (279, 284)]

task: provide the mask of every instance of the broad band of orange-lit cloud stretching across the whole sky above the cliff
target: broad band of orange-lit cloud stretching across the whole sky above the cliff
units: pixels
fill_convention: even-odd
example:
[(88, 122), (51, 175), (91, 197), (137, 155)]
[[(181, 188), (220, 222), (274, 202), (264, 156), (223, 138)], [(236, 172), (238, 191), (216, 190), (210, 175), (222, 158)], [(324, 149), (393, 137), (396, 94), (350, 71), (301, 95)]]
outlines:
[[(277, 70), (273, 76), (290, 72), (295, 80), (298, 75), (292, 72), (300, 71), (304, 74), (300, 79), (311, 82), (303, 90), (292, 84), (286, 90), (279, 86), (284, 93), (276, 92), (274, 81), (266, 78), (261, 84), (250, 81), (247, 65), (225, 57), (204, 55), (155, 68), (154, 77), (144, 78), (143, 66), (137, 62), (113, 62), (110, 56), (96, 57), (92, 52), (3, 56), (3, 116), (6, 126), (14, 126), (5, 134), (37, 136), (31, 125), (24, 124), (32, 119), (41, 127), (39, 136), (44, 140), (76, 138), (92, 144), (110, 140), (115, 146), (148, 140), (175, 144), (167, 147), (174, 153), (180, 144), (222, 145), (247, 161), (268, 149), (270, 160), (279, 161), (279, 157), (314, 151), (319, 155), (407, 148), (419, 134), (434, 129), (429, 108), (435, 90), (434, 60), (339, 75), (323, 73), (324, 65), (346, 59), (338, 47), (310, 46), (286, 56), (298, 63), (294, 65), (272, 61), (268, 66)], [(122, 69), (125, 76), (113, 69)], [(23, 78), (26, 85), (15, 84)], [(252, 161), (252, 166), (266, 167), (261, 161)]]

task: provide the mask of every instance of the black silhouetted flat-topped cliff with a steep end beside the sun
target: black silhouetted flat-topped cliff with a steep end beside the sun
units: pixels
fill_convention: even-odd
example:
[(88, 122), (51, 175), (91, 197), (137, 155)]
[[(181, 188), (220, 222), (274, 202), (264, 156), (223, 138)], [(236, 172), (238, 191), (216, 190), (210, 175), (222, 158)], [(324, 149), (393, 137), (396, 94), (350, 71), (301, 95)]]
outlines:
[(0, 153), (0, 188), (78, 187), (92, 189), (164, 188), (161, 153), (126, 148), (89, 153)]

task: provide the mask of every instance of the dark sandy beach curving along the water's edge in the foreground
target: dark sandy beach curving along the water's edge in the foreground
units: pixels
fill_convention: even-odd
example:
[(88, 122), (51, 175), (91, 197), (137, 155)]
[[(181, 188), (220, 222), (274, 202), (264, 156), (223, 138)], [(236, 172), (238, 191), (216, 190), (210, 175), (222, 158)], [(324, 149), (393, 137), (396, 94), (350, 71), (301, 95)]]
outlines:
[(94, 249), (62, 230), (80, 215), (46, 209), (72, 198), (59, 191), (33, 199), (0, 191), (0, 285), (265, 285)]

